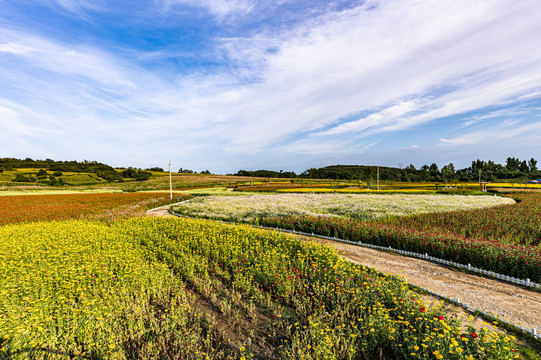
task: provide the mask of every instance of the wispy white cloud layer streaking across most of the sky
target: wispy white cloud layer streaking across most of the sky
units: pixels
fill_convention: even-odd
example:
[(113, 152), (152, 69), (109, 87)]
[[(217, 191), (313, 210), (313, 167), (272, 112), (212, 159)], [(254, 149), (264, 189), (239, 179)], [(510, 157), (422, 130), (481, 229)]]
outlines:
[[(86, 1), (58, 1), (74, 14), (94, 10)], [(179, 22), (193, 8), (218, 20), (212, 38), (198, 42), (212, 48), (194, 48), (190, 58), (204, 54), (211, 65), (203, 69), (190, 68), (182, 54), (167, 48), (150, 53), (118, 44), (121, 51), (115, 51), (96, 41), (68, 43), (37, 28), (0, 30), (0, 101), (10, 109), (4, 113), (30, 127), (58, 129), (89, 147), (96, 144), (93, 151), (103, 156), (122, 159), (151, 147), (151, 159), (175, 149), (190, 154), (194, 164), (223, 169), (224, 159), (251, 162), (269, 152), (303, 161), (312, 154), (316, 161), (323, 154), (351, 157), (367, 149), (387, 151), (381, 150), (386, 146), (398, 151), (394, 147), (408, 145), (393, 145), (385, 136), (410, 129), (426, 128), (434, 146), (473, 144), (460, 132), (465, 124), (501, 124), (504, 117), (520, 116), (504, 109), (491, 117), (495, 107), (540, 112), (537, 1), (369, 0), (348, 6), (342, 1), (340, 7), (275, 1), (271, 7), (301, 3), (312, 16), (274, 26), (262, 12), (271, 5), (255, 0), (156, 2), (162, 12), (183, 7), (170, 14)], [(240, 17), (266, 26), (222, 24)], [(169, 67), (152, 66), (165, 56)], [(30, 108), (37, 120), (30, 120)], [(445, 135), (428, 130), (441, 119)], [(505, 126), (528, 129), (538, 122), (533, 116)], [(19, 131), (21, 138), (25, 132)], [(511, 139), (524, 131), (507, 133)], [(476, 143), (493, 139), (480, 136)], [(412, 138), (409, 144), (420, 142)]]

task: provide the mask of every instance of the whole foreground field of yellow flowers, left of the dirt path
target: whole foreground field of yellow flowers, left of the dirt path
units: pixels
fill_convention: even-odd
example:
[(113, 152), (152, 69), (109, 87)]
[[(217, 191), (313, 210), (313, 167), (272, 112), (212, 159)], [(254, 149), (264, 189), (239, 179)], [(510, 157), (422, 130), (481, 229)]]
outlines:
[(329, 248), (204, 220), (4, 225), (0, 294), (0, 359), (518, 357)]

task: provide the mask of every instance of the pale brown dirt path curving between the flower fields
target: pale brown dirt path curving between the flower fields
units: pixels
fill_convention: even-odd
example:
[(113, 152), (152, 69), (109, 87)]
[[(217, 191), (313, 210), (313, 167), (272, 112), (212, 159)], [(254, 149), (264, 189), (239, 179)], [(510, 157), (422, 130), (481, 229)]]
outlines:
[[(167, 208), (150, 215), (174, 217)], [(482, 310), (526, 329), (541, 331), (541, 293), (526, 290), (498, 280), (471, 275), (462, 271), (385, 251), (297, 236), (306, 241), (332, 246), (346, 259), (383, 273), (403, 275), (411, 284), (450, 298), (459, 298), (467, 306)]]

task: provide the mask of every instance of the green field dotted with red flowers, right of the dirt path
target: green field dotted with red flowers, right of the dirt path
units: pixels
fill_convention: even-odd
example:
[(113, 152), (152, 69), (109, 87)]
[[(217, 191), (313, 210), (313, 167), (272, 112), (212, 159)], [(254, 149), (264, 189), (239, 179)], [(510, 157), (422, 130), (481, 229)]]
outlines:
[(504, 241), (323, 216), (267, 217), (260, 219), (260, 224), (426, 253), (503, 275), (541, 282), (541, 251), (538, 247), (514, 246)]

